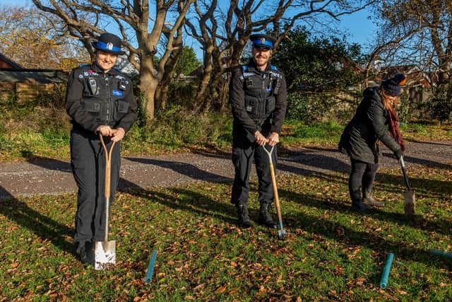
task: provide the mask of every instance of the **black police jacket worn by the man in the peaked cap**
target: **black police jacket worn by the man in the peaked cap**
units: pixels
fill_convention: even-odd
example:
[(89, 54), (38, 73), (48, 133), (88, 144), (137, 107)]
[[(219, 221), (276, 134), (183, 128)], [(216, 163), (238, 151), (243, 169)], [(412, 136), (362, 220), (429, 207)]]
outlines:
[(254, 137), (256, 130), (270, 124), (270, 131), (281, 133), (287, 108), (284, 74), (271, 66), (265, 71), (249, 64), (232, 71), (229, 91), (234, 126), (243, 127)]

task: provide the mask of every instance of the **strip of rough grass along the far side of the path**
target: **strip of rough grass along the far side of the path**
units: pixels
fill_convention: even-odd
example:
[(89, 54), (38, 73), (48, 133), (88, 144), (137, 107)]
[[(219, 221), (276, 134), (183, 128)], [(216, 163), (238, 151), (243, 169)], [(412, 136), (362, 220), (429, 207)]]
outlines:
[[(0, 108), (1, 109), (1, 108)], [(64, 115), (61, 112), (61, 115)], [(169, 153), (187, 153), (208, 150), (230, 153), (232, 145), (232, 118), (225, 114), (178, 120), (170, 115), (168, 120), (140, 128), (133, 125), (121, 145), (123, 156), (146, 156)], [(0, 120), (1, 126), (1, 120)], [(66, 128), (67, 129), (66, 129)], [(69, 126), (18, 127), (13, 132), (0, 127), (0, 162), (25, 161), (33, 158), (69, 160)], [(296, 149), (300, 146), (336, 146), (344, 125), (337, 122), (304, 124), (298, 120), (287, 120), (283, 127), (281, 146)], [(15, 129), (12, 127), (11, 129)], [(401, 126), (407, 141), (452, 141), (451, 124), (410, 123)]]

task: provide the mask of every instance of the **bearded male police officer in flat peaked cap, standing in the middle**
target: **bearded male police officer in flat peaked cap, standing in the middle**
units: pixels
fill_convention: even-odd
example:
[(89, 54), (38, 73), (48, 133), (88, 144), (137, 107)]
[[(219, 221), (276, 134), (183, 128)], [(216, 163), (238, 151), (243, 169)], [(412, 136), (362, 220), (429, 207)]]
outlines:
[[(258, 175), (258, 223), (276, 228), (270, 216), (273, 187), (268, 155), (262, 150), (266, 144), (278, 144), (287, 107), (285, 77), (270, 64), (275, 38), (251, 35), (253, 57), (249, 63), (232, 72), (230, 102), (234, 123), (232, 127), (232, 162), (235, 176), (231, 202), (236, 205), (239, 226), (250, 228), (248, 214), (249, 173), (254, 158)], [(276, 149), (273, 151), (276, 163)]]

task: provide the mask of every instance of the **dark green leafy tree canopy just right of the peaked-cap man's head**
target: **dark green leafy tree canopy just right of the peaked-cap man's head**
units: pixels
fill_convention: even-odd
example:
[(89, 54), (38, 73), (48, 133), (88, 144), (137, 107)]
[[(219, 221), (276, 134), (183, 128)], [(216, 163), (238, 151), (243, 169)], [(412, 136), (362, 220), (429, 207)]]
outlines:
[(272, 64), (285, 73), (289, 91), (344, 90), (360, 81), (364, 54), (345, 38), (316, 37), (297, 27), (280, 41)]

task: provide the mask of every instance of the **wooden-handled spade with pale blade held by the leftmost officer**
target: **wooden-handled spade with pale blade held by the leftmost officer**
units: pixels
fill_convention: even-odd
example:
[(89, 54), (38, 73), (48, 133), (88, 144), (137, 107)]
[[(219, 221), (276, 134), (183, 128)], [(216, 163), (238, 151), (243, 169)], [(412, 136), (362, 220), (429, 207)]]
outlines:
[[(113, 132), (114, 133), (114, 132)], [(110, 180), (112, 173), (112, 151), (115, 141), (112, 141), (109, 151), (105, 146), (102, 134), (99, 133), (100, 143), (105, 151), (105, 235), (103, 241), (96, 241), (94, 245), (94, 269), (108, 269), (116, 265), (116, 240), (108, 240), (108, 214), (110, 203)]]

